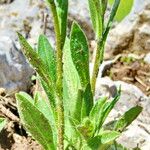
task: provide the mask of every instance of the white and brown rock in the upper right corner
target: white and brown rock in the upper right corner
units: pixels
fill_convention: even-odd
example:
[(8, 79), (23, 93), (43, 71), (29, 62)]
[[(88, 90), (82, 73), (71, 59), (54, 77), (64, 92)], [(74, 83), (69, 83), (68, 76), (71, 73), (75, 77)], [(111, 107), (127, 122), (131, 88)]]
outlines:
[(110, 31), (105, 58), (123, 50), (150, 51), (150, 1), (136, 0), (131, 13)]

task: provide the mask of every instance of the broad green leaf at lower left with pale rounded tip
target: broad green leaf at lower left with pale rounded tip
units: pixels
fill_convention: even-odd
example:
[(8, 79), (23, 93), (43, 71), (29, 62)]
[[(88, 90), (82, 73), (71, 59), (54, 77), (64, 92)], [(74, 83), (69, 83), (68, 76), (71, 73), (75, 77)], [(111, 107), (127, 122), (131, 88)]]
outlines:
[(25, 128), (45, 149), (55, 150), (52, 127), (43, 112), (33, 104), (34, 101), (27, 94), (16, 94), (16, 99), (19, 115)]

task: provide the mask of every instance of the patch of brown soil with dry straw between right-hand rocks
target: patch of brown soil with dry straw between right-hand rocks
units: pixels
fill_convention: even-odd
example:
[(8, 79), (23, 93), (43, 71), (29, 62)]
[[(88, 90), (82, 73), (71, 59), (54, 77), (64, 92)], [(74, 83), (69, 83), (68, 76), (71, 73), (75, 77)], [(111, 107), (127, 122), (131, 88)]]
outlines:
[(150, 96), (150, 65), (145, 63), (140, 55), (133, 54), (133, 56), (122, 54), (107, 70), (106, 75), (112, 80), (133, 84)]

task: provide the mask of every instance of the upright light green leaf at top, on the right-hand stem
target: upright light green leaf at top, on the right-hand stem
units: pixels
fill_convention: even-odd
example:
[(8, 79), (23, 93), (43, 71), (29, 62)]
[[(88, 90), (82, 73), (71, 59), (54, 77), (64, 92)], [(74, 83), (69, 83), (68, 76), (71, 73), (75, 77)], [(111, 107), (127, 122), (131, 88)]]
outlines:
[(103, 12), (100, 0), (88, 0), (90, 16), (97, 38), (100, 38), (103, 31)]

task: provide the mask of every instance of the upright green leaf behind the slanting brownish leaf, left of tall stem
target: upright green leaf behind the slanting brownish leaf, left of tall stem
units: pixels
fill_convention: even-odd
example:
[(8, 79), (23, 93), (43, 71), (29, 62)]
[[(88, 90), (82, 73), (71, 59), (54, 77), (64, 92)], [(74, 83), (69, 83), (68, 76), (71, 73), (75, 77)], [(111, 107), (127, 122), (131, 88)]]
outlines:
[(53, 84), (56, 83), (56, 58), (54, 50), (45, 35), (39, 36), (38, 54), (47, 66)]

